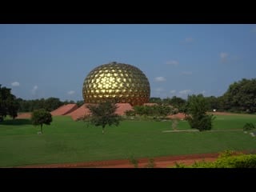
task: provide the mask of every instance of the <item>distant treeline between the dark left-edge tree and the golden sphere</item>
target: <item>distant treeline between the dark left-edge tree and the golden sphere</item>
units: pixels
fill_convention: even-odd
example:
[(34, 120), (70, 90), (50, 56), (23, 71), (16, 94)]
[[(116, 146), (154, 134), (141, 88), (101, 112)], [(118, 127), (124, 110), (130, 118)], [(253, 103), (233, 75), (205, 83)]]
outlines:
[(22, 98), (17, 98), (18, 102), (18, 112), (31, 112), (34, 110), (45, 109), (47, 111), (52, 111), (58, 109), (58, 107), (66, 104), (77, 104), (82, 106), (83, 101), (74, 102), (72, 100), (60, 101), (59, 98), (41, 98), (33, 100), (24, 100)]

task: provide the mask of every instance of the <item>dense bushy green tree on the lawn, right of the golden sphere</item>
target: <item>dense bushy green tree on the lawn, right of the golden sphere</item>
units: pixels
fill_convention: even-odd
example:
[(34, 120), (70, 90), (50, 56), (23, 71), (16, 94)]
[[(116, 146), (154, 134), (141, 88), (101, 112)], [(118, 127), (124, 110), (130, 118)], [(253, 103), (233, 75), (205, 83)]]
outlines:
[(212, 114), (206, 114), (209, 109), (209, 103), (202, 94), (189, 95), (186, 104), (186, 120), (193, 129), (211, 130), (214, 117)]

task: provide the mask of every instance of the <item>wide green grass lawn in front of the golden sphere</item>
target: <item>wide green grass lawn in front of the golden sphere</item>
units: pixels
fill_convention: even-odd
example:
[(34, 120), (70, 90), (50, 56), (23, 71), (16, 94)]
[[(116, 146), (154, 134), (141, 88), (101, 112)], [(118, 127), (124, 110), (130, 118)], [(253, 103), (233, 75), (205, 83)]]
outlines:
[[(37, 134), (29, 119), (9, 119), (0, 123), (0, 167), (256, 150), (256, 138), (242, 131), (246, 122), (256, 125), (256, 115), (216, 115), (213, 131), (181, 133), (162, 133), (172, 130), (169, 121), (126, 120), (102, 134), (101, 127), (62, 116)], [(178, 130), (186, 129), (180, 121)]]

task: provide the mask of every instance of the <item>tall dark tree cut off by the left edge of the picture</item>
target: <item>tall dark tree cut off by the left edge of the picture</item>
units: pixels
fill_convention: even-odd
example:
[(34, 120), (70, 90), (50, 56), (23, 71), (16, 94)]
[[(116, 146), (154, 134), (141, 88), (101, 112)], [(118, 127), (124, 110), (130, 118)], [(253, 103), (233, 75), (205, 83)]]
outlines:
[(11, 94), (11, 89), (2, 87), (0, 84), (0, 122), (9, 114), (12, 118), (17, 117), (18, 102), (14, 94)]

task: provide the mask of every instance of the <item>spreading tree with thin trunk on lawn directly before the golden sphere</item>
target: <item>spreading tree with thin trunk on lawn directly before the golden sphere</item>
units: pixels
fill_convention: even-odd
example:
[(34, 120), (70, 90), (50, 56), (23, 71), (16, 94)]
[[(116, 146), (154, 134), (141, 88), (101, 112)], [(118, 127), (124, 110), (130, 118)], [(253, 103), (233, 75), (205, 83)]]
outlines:
[(121, 120), (118, 114), (115, 114), (118, 106), (113, 102), (101, 102), (95, 105), (87, 105), (90, 110), (90, 122), (94, 126), (102, 126), (102, 134), (106, 125), (118, 126)]

